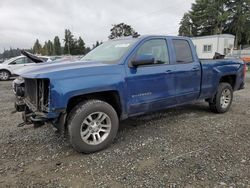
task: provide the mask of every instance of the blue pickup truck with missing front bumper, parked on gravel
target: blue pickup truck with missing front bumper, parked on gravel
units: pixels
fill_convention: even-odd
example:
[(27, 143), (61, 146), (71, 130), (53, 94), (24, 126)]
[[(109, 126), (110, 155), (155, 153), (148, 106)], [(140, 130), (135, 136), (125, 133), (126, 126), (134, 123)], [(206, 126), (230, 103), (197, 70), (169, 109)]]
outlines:
[[(240, 60), (199, 60), (189, 38), (131, 36), (110, 40), (80, 61), (44, 63), (19, 70), (17, 111), (25, 123), (68, 130), (79, 152), (112, 143), (119, 121), (204, 100), (228, 111), (244, 88)], [(18, 82), (17, 82), (18, 83)]]

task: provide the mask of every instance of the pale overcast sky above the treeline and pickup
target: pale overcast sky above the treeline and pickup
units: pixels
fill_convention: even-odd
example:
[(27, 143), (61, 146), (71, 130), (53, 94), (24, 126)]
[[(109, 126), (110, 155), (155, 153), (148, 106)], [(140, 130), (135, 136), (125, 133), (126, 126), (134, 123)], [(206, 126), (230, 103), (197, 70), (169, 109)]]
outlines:
[(0, 0), (0, 52), (31, 48), (70, 29), (88, 46), (107, 40), (112, 24), (131, 25), (140, 34), (176, 35), (194, 0)]

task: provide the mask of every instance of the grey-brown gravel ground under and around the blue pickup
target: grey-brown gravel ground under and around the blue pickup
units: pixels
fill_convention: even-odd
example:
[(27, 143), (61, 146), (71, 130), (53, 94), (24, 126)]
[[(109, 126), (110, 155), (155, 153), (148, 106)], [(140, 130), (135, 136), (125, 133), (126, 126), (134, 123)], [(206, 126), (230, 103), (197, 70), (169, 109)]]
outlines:
[(111, 147), (84, 155), (51, 125), (17, 128), (10, 85), (0, 82), (0, 187), (250, 187), (250, 87), (223, 115), (201, 102), (122, 122)]

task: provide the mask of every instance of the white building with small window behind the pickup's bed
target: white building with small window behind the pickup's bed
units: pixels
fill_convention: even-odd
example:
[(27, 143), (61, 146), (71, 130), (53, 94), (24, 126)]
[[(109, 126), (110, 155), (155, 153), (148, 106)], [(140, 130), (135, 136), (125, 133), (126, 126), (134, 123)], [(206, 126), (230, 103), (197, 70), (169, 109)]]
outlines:
[(234, 35), (222, 34), (193, 37), (192, 41), (200, 59), (212, 59), (216, 52), (222, 55), (231, 53), (234, 48), (234, 39)]

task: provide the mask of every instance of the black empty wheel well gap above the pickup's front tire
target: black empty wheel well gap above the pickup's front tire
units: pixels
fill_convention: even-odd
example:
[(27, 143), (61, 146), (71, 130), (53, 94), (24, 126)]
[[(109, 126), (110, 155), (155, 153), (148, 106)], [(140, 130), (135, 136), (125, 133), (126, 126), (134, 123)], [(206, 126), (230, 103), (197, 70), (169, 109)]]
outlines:
[(104, 92), (96, 92), (96, 93), (75, 96), (71, 98), (68, 102), (67, 113), (69, 113), (78, 103), (90, 99), (98, 99), (107, 102), (115, 109), (118, 117), (120, 117), (122, 113), (122, 108), (121, 108), (120, 96), (117, 91), (104, 91)]

